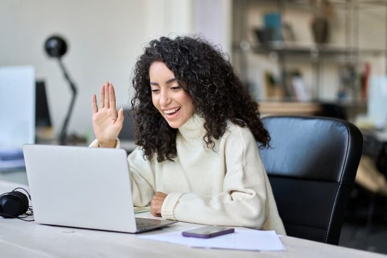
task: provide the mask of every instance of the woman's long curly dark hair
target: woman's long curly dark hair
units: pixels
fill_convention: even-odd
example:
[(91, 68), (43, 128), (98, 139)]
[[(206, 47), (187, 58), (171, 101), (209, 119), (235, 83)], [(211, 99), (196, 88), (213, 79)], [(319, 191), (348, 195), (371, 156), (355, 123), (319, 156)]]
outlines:
[(176, 133), (152, 104), (149, 68), (161, 61), (170, 69), (204, 118), (206, 147), (214, 147), (226, 131), (227, 121), (249, 127), (260, 147), (270, 136), (260, 119), (259, 105), (252, 100), (229, 62), (216, 46), (200, 37), (161, 37), (152, 40), (137, 60), (132, 79), (135, 95), (131, 101), (136, 121), (136, 144), (158, 162), (177, 156)]

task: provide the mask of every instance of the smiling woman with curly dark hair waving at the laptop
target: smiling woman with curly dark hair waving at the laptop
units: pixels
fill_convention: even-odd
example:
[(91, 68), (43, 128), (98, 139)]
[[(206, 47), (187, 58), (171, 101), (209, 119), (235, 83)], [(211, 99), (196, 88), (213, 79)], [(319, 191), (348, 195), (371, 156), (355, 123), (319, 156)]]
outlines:
[[(270, 140), (229, 61), (200, 38), (153, 40), (136, 63), (139, 147), (128, 156), (135, 206), (192, 223), (285, 234), (256, 142)], [(94, 147), (119, 147), (113, 86), (92, 97)]]

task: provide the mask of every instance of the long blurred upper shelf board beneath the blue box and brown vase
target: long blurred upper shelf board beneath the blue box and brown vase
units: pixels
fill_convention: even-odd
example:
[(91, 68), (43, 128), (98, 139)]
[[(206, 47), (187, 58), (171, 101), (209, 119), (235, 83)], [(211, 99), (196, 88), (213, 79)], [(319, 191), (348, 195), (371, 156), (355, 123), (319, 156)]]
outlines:
[(324, 45), (300, 45), (297, 43), (284, 43), (284, 42), (272, 42), (267, 45), (262, 45), (260, 43), (243, 43), (244, 46), (241, 47), (241, 44), (234, 43), (233, 48), (240, 51), (248, 51), (252, 53), (270, 53), (277, 52), (279, 54), (289, 54), (289, 55), (309, 55), (312, 57), (318, 57), (319, 55), (329, 56), (329, 55), (381, 55), (387, 54), (384, 49), (374, 49), (374, 48), (355, 48), (355, 47), (343, 47), (335, 46), (331, 44)]

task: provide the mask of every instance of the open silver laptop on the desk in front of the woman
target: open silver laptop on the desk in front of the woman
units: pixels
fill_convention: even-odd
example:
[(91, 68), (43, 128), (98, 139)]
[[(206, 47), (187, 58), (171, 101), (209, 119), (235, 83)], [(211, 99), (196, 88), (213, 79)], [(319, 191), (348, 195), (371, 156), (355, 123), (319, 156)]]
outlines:
[(126, 151), (23, 145), (35, 221), (137, 233), (176, 221), (135, 218)]

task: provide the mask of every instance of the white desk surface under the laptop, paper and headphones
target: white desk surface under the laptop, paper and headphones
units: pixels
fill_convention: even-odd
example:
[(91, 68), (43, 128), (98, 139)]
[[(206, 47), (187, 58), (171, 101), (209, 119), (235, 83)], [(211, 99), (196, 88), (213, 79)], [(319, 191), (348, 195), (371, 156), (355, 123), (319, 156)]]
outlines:
[[(0, 181), (0, 193), (20, 185)], [(102, 211), (102, 210), (101, 210)], [(140, 213), (138, 217), (151, 217)], [(164, 229), (141, 233), (183, 230), (197, 226), (179, 222)], [(140, 239), (138, 234), (116, 233), (68, 227), (39, 225), (18, 219), (0, 217), (0, 257), (57, 258), (57, 257), (387, 257), (341, 246), (329, 245), (285, 236), (281, 241), (286, 251), (256, 252), (191, 248), (158, 241)]]

